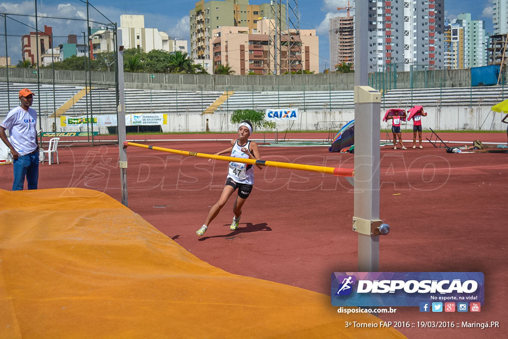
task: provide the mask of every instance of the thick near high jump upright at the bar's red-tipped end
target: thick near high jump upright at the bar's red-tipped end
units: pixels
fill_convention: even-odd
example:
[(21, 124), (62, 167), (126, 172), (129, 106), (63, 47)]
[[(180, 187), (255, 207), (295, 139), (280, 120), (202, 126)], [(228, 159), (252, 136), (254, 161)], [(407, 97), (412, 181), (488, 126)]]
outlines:
[(379, 234), (389, 226), (379, 220), (379, 119), (381, 95), (368, 84), (368, 6), (355, 2), (355, 204), (358, 271), (379, 270)]

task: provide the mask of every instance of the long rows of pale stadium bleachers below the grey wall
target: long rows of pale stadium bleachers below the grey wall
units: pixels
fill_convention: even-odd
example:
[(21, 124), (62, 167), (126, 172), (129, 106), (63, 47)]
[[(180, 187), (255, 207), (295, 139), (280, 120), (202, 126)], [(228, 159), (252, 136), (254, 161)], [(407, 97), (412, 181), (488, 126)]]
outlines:
[[(33, 83), (10, 84), (11, 108), (17, 105), (17, 93), (21, 88), (29, 87), (36, 91)], [(78, 86), (41, 85), (37, 94), (35, 107), (40, 107), (43, 114), (52, 114), (54, 108), (72, 99), (82, 90)], [(126, 113), (203, 113), (223, 92), (221, 91), (175, 91), (125, 89)], [(504, 88), (499, 86), (450, 87), (450, 88), (403, 88), (391, 89), (382, 98), (382, 108), (409, 108), (412, 105), (422, 106), (489, 106), (508, 97)], [(37, 102), (39, 101), (39, 102)], [(116, 95), (114, 88), (92, 88), (86, 96), (77, 100), (67, 110), (68, 115), (83, 115), (86, 106), (94, 114), (115, 114)], [(7, 83), (0, 83), (0, 110), (8, 112)], [(234, 111), (237, 109), (273, 109), (294, 107), (310, 111), (342, 110), (354, 107), (353, 91), (236, 91), (225, 100), (218, 111)]]

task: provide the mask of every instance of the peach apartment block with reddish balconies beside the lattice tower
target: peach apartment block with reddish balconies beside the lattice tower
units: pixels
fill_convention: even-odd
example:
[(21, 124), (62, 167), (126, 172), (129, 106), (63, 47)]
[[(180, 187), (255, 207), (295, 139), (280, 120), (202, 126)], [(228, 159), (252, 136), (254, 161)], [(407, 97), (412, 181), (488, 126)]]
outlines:
[(281, 73), (301, 70), (318, 73), (319, 37), (315, 29), (302, 29), (299, 36), (291, 30), (282, 32), (280, 54), (275, 59), (275, 48), (269, 36), (271, 21), (259, 20), (257, 34), (251, 34), (248, 27), (212, 29), (213, 40), (209, 48), (214, 67), (229, 65), (237, 75), (271, 74), (276, 60)]

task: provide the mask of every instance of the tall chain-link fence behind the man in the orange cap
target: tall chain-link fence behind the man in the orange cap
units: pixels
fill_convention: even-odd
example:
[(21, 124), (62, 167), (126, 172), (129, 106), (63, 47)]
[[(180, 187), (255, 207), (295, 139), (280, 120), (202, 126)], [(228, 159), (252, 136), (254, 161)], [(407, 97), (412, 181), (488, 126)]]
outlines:
[[(92, 74), (91, 65), (97, 64), (98, 58), (102, 61), (105, 52), (93, 38), (97, 32), (109, 32), (113, 37), (112, 46), (106, 52), (110, 54), (108, 69), (115, 70), (113, 79), (117, 79), (116, 28), (116, 23), (88, 1), (1, 3), (0, 72), (5, 81), (0, 83), (0, 122), (19, 104), (18, 91), (28, 87), (36, 94), (32, 107), (38, 112), (41, 137), (73, 132), (93, 141), (98, 130), (93, 130), (93, 124), (87, 122), (97, 120), (93, 101), (100, 99), (93, 98), (90, 87), (100, 86), (101, 79)], [(56, 74), (70, 72), (57, 69), (64, 60), (79, 64), (80, 83), (62, 86)], [(117, 84), (113, 82), (108, 87), (117, 102)], [(85, 105), (77, 105), (84, 97)], [(64, 116), (68, 115), (75, 116), (74, 121), (81, 124), (62, 125)]]

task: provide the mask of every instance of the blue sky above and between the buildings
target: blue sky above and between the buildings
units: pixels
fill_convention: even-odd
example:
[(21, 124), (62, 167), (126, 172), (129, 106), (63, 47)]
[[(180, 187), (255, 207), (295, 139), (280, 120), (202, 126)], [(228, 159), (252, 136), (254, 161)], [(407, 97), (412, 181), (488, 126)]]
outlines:
[[(269, 0), (250, 0), (250, 4), (258, 5), (267, 3)], [(39, 13), (48, 16), (55, 12), (63, 15), (83, 17), (82, 3), (76, 0), (40, 0)], [(111, 21), (120, 21), (121, 14), (143, 14), (145, 15), (145, 26), (158, 28), (173, 37), (189, 39), (188, 13), (195, 7), (195, 0), (179, 1), (127, 1), (127, 0), (90, 0), (90, 3), (104, 13)], [(353, 1), (351, 1), (353, 3)], [(25, 5), (26, 4), (26, 5)], [(10, 2), (0, 0), (0, 12), (18, 13), (30, 11), (33, 1)], [(333, 16), (345, 15), (340, 13), (337, 7), (347, 5), (347, 0), (301, 0), (298, 3), (300, 14), (300, 28), (316, 29), (320, 37), (320, 70), (330, 67), (330, 53), (328, 43), (328, 19)], [(445, 15), (456, 18), (460, 13), (471, 13), (473, 20), (485, 20), (486, 32), (492, 33), (492, 0), (477, 0), (466, 2), (464, 0), (445, 0)], [(15, 11), (15, 12), (13, 12)], [(33, 10), (31, 10), (33, 11)], [(69, 16), (66, 16), (69, 17)], [(39, 22), (41, 25), (41, 22)], [(61, 23), (64, 25), (65, 23)], [(55, 23), (52, 23), (55, 26)], [(68, 28), (66, 29), (68, 30)], [(84, 30), (80, 27), (76, 30)], [(53, 29), (55, 32), (55, 29)], [(3, 32), (2, 32), (3, 33)], [(66, 33), (70, 34), (70, 33)], [(78, 33), (79, 34), (79, 33)], [(55, 41), (56, 42), (56, 41)]]

